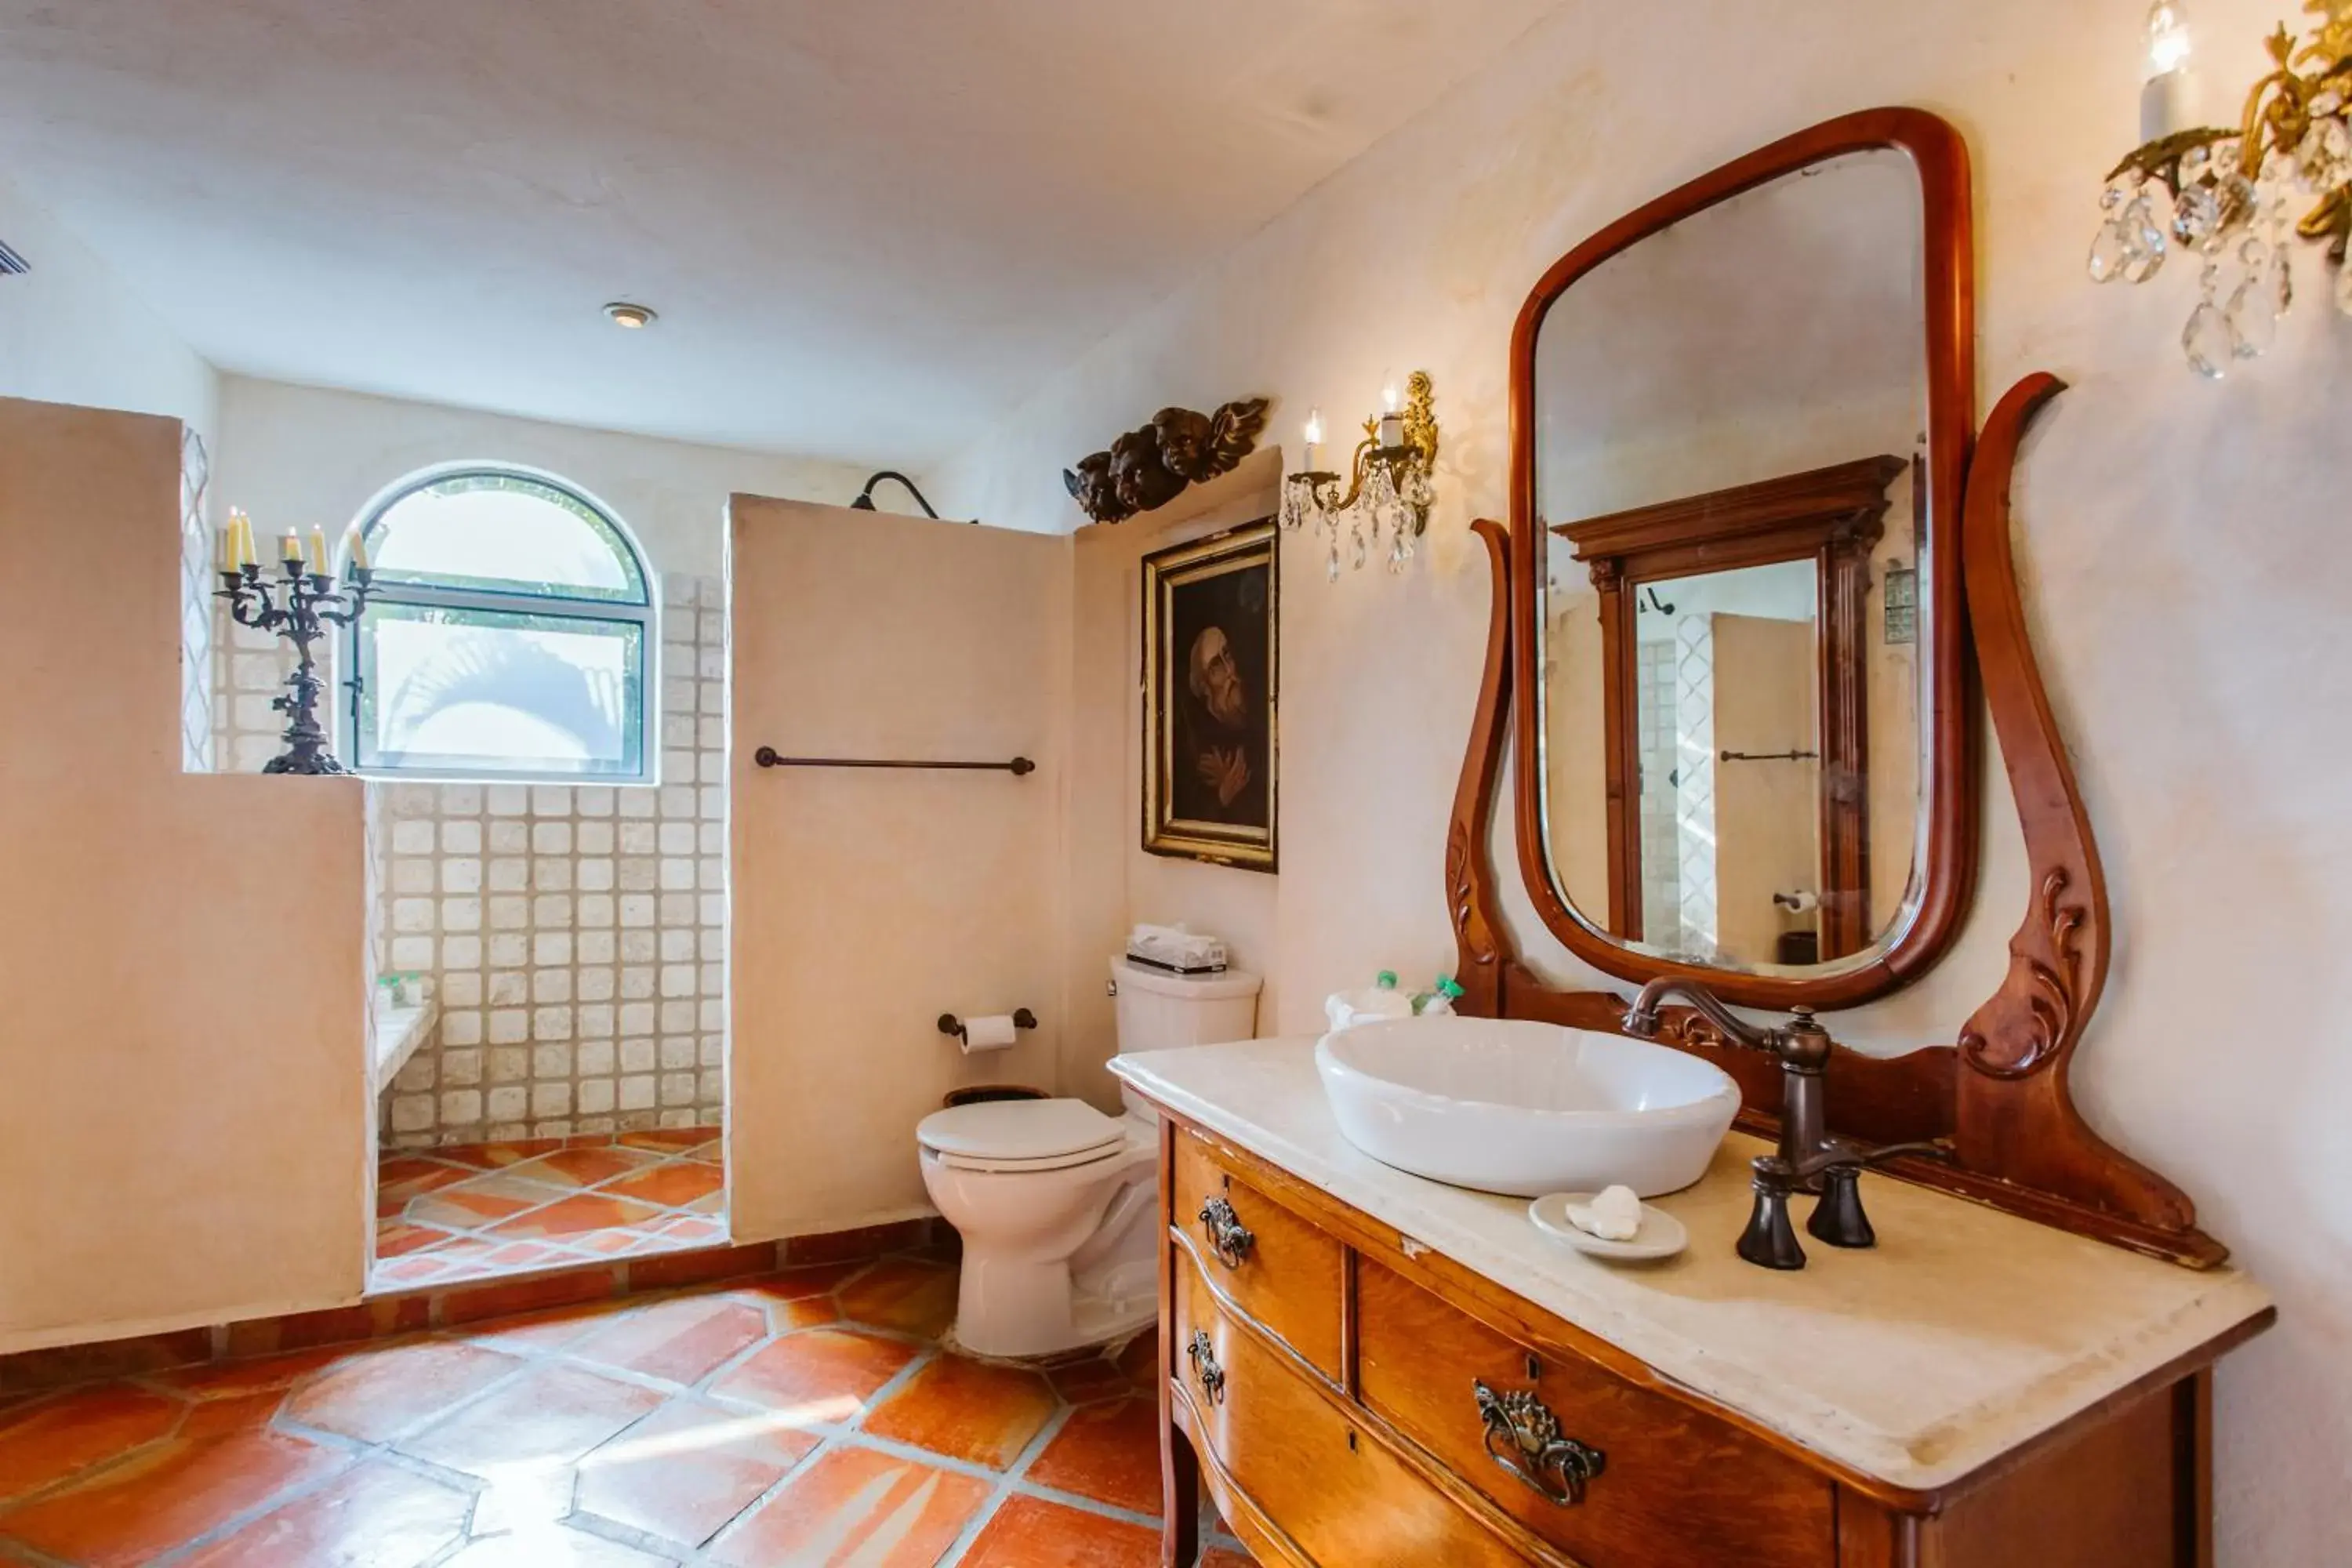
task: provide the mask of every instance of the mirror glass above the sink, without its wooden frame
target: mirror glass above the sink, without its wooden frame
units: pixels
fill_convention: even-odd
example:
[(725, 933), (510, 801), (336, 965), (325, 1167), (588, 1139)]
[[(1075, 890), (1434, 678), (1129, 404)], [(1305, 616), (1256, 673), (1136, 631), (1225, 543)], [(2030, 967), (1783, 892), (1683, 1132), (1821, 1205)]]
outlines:
[(1924, 346), (1891, 148), (1696, 212), (1545, 313), (1543, 835), (1588, 929), (1802, 976), (1917, 912)]

